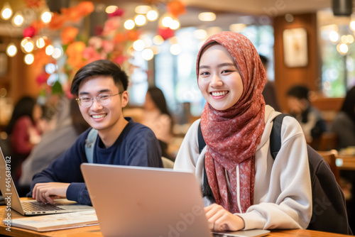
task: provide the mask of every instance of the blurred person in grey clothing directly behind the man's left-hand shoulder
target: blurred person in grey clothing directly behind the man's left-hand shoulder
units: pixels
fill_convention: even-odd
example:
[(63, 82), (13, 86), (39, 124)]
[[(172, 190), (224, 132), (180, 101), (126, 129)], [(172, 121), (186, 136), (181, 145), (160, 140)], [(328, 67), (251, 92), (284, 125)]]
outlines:
[(82, 118), (77, 101), (62, 98), (58, 103), (55, 128), (43, 133), (40, 143), (22, 163), (22, 173), (18, 181), (20, 197), (24, 197), (30, 191), (33, 175), (60, 157), (87, 128), (89, 124)]

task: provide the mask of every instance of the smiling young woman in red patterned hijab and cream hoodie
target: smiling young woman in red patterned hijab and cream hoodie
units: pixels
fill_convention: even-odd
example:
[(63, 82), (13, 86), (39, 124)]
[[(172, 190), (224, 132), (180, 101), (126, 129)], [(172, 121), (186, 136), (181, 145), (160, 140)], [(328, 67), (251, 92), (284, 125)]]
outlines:
[[(239, 33), (212, 35), (197, 55), (197, 82), (207, 103), (187, 132), (174, 169), (195, 172), (202, 187), (212, 189), (212, 202), (204, 198), (212, 231), (307, 228), (310, 222), (305, 136), (295, 118), (286, 116), (282, 159), (273, 160), (270, 133), (279, 113), (265, 104), (265, 81), (258, 52)], [(201, 153), (199, 123), (207, 144)]]

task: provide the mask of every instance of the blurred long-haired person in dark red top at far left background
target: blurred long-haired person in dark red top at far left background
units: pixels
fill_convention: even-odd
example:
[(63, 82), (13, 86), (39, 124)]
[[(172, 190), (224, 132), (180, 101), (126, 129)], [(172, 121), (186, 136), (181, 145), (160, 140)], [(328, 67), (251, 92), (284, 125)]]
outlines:
[(40, 142), (40, 136), (45, 129), (42, 114), (42, 108), (32, 97), (22, 97), (13, 108), (6, 133), (10, 138), (11, 173), (15, 182), (21, 175), (21, 163)]

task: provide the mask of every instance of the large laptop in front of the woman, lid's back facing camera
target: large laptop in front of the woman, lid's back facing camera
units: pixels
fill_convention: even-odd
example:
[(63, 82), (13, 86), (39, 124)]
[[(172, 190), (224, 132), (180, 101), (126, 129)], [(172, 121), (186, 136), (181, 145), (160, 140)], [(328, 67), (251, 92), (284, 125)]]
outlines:
[[(103, 236), (212, 237), (192, 173), (88, 163), (82, 163), (81, 169)], [(229, 233), (265, 236), (269, 232)]]

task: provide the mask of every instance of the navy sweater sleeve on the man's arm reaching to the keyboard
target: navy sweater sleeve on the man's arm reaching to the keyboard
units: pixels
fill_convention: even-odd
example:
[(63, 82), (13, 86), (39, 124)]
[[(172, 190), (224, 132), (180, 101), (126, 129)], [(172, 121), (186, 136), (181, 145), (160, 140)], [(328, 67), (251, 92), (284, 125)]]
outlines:
[(80, 170), (82, 162), (87, 162), (84, 151), (84, 140), (87, 137), (87, 132), (82, 133), (74, 145), (60, 158), (54, 160), (45, 170), (33, 176), (31, 192), (27, 195), (28, 197), (32, 196), (32, 190), (36, 183), (65, 182), (70, 183), (67, 189), (67, 199), (79, 204), (91, 205)]

